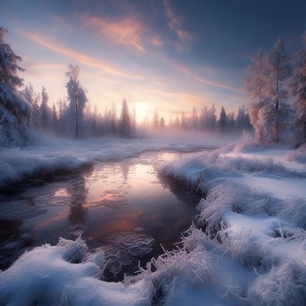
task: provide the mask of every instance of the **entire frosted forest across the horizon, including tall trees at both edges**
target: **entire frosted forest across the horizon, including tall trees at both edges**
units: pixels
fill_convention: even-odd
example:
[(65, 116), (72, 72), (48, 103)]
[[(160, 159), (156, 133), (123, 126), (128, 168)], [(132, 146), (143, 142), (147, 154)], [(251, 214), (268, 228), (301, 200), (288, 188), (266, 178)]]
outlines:
[[(218, 115), (213, 104), (203, 106), (198, 112), (193, 107), (189, 115), (185, 110), (181, 116), (170, 116), (166, 123), (157, 109), (150, 118), (137, 117), (137, 109), (129, 108), (125, 98), (118, 114), (117, 105), (105, 107), (104, 114), (92, 110), (87, 98), (86, 86), (80, 84), (80, 66), (68, 65), (66, 72), (66, 97), (49, 106), (46, 88), (35, 91), (31, 82), (24, 86), (18, 72), (24, 71), (16, 55), (5, 43), (8, 30), (0, 28), (0, 145), (22, 146), (31, 141), (31, 131), (52, 132), (58, 136), (119, 137), (144, 136), (154, 129), (169, 131), (254, 131), (261, 143), (286, 142), (293, 140), (295, 146), (306, 141), (306, 49), (295, 54), (286, 54), (281, 39), (270, 52), (260, 49), (251, 58), (246, 68), (243, 89), (250, 96), (251, 103), (237, 111), (226, 113), (221, 107)], [(306, 44), (306, 35), (303, 36)], [(290, 135), (290, 136), (288, 136)]]

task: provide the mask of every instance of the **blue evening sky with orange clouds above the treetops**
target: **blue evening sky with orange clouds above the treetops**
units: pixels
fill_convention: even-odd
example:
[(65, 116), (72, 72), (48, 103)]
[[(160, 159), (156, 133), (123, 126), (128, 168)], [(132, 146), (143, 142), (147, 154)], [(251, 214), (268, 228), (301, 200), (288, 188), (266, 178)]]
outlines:
[(215, 104), (247, 106), (241, 80), (250, 58), (279, 38), (303, 47), (304, 0), (0, 0), (6, 42), (22, 57), (24, 84), (46, 87), (49, 105), (67, 95), (79, 65), (92, 109), (126, 98), (137, 121), (168, 121)]

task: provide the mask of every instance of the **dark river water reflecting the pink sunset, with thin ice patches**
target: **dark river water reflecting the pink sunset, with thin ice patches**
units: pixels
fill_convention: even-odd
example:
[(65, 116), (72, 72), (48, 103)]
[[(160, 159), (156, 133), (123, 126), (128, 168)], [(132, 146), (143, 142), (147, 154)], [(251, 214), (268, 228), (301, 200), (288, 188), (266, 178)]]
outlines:
[[(172, 250), (197, 214), (200, 195), (158, 175), (154, 166), (181, 154), (187, 153), (147, 152), (96, 163), (94, 169), (33, 187), (21, 185), (15, 192), (4, 191), (0, 198), (0, 269), (7, 268), (25, 249), (55, 245), (59, 237), (75, 240), (82, 235), (89, 249), (105, 248), (110, 257), (121, 249), (118, 256), (125, 261), (119, 260), (118, 267), (118, 258), (112, 258), (117, 261), (112, 275), (126, 272), (124, 265), (160, 255), (160, 244)], [(122, 253), (125, 249), (127, 253)]]

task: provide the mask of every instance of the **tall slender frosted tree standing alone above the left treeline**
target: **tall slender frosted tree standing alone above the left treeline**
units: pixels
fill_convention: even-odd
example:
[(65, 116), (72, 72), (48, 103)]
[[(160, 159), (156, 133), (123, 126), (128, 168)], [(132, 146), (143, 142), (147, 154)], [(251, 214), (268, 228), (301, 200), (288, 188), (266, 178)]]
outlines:
[[(68, 129), (75, 127), (75, 136), (78, 139), (80, 130), (83, 134), (86, 133), (86, 120), (84, 116), (84, 110), (88, 102), (86, 93), (87, 88), (83, 87), (79, 81), (80, 66), (68, 65), (69, 71), (66, 76), (69, 81), (66, 83), (68, 100), (69, 100), (69, 111), (68, 114)], [(73, 124), (72, 124), (73, 123)]]

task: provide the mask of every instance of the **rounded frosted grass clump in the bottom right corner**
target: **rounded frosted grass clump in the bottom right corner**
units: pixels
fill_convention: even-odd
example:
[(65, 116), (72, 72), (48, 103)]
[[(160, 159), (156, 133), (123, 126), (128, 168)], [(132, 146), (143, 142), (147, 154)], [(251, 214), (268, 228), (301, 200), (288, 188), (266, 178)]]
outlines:
[(253, 305), (304, 306), (306, 301), (306, 265), (302, 261), (284, 261), (252, 284), (248, 299)]

